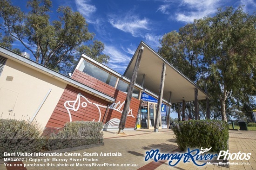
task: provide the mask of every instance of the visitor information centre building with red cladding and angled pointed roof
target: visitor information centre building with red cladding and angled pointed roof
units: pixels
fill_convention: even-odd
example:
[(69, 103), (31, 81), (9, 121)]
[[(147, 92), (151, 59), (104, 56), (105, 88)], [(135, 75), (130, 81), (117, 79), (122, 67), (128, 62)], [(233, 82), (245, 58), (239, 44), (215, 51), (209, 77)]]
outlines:
[(172, 103), (209, 97), (144, 42), (123, 75), (82, 54), (73, 73), (64, 76), (0, 47), (1, 119), (37, 121), (42, 127), (57, 128), (70, 121), (97, 121), (104, 129), (117, 129), (140, 49), (143, 52), (125, 129), (154, 128), (163, 65), (159, 128), (167, 128)]

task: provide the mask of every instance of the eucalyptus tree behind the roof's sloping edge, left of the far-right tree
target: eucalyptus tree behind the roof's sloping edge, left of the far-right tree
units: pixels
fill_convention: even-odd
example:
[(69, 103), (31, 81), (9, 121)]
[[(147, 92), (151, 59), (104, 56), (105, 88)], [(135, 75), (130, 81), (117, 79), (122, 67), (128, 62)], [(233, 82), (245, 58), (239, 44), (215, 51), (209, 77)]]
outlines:
[[(179, 69), (190, 80), (196, 82), (200, 72), (199, 41), (195, 37), (195, 26), (185, 25), (179, 32), (171, 31), (162, 38), (159, 53), (175, 68)], [(178, 104), (180, 105), (180, 104)], [(189, 119), (194, 118), (194, 102), (186, 102), (186, 112)], [(173, 107), (178, 113), (179, 107)]]

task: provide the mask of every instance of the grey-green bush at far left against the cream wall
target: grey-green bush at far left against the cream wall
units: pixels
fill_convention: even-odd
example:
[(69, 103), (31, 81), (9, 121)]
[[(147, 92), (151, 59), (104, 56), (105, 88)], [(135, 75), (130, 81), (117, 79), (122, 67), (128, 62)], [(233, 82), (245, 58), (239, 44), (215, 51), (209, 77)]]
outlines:
[(0, 158), (4, 152), (38, 152), (44, 146), (38, 124), (25, 120), (0, 119)]

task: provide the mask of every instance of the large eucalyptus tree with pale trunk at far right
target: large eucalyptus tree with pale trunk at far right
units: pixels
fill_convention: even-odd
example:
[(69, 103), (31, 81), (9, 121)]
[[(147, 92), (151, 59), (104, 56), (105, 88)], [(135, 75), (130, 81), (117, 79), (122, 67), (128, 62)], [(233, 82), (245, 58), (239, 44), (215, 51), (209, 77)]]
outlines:
[[(237, 104), (256, 95), (256, 16), (227, 7), (214, 17), (195, 21), (202, 35), (202, 74), (218, 98), (222, 120), (227, 121), (226, 102)], [(232, 99), (232, 100), (233, 100)]]

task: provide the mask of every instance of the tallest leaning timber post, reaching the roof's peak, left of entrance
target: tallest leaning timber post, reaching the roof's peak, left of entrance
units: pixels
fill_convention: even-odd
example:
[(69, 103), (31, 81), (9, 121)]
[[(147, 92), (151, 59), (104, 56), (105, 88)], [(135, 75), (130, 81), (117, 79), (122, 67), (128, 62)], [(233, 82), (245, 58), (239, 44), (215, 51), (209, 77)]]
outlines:
[(129, 107), (130, 107), (130, 102), (131, 102), (131, 99), (132, 99), (133, 89), (134, 89), (134, 85), (135, 85), (135, 82), (136, 82), (138, 69), (139, 69), (139, 66), (140, 66), (140, 63), (141, 63), (141, 56), (142, 56), (142, 53), (143, 53), (143, 49), (144, 49), (144, 47), (141, 46), (141, 49), (139, 50), (138, 55), (137, 55), (137, 59), (136, 59), (135, 66), (134, 66), (134, 69), (133, 69), (131, 82), (130, 82), (129, 87), (128, 87), (128, 92), (127, 92), (126, 100), (125, 100), (122, 115), (121, 115), (121, 120), (120, 120), (120, 123), (119, 123), (119, 126), (118, 126), (119, 127), (118, 133), (123, 133), (123, 129), (125, 127), (125, 123), (126, 123), (126, 120), (127, 120), (127, 115), (128, 115), (128, 111), (129, 111)]

